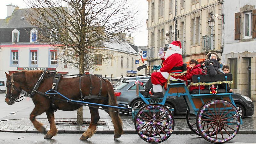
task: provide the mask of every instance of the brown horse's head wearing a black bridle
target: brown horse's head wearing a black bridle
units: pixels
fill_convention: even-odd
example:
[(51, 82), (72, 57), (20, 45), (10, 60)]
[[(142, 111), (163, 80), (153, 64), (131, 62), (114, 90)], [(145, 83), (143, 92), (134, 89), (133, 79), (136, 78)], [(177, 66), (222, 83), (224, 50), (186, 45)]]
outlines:
[(6, 74), (6, 89), (5, 89), (5, 102), (8, 105), (12, 105), (15, 100), (17, 100), (20, 97), (20, 83), (17, 81), (19, 79), (14, 80), (13, 79), (13, 74), (9, 75), (5, 72)]

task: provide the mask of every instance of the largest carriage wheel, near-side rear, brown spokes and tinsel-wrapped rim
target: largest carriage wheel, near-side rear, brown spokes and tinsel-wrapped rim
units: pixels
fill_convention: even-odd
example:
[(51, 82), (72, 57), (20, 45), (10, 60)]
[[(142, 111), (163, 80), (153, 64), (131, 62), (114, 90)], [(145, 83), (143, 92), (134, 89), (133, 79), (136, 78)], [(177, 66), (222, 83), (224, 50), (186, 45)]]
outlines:
[[(204, 121), (207, 123), (204, 124)], [(207, 126), (208, 128), (205, 129)], [(196, 127), (205, 140), (224, 143), (236, 136), (240, 128), (240, 116), (232, 103), (215, 99), (205, 102), (199, 109), (196, 116)]]

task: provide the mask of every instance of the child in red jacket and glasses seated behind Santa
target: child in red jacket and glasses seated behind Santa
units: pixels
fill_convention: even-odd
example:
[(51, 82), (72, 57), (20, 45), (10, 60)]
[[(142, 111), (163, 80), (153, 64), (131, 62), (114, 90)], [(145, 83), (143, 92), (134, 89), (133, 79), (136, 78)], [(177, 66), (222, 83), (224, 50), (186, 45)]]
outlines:
[[(189, 61), (189, 67), (187, 68), (187, 73), (185, 74), (185, 77), (187, 80), (191, 80), (193, 75), (196, 74), (206, 74), (204, 70), (201, 68), (201, 64), (198, 63), (196, 59), (191, 59)], [(198, 89), (197, 86), (191, 86), (189, 87), (189, 91), (192, 91), (194, 89)], [(200, 86), (200, 90), (204, 89), (204, 86)]]

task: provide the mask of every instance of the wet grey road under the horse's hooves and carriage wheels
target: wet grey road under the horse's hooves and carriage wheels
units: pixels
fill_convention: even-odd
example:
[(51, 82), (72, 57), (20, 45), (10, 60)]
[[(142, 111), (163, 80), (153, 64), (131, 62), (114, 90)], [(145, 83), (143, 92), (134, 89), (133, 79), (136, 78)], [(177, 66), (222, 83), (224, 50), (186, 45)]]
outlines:
[[(124, 134), (119, 140), (113, 140), (113, 134), (94, 134), (91, 139), (86, 141), (79, 140), (81, 134), (58, 134), (52, 139), (45, 140), (40, 133), (4, 133), (0, 132), (1, 144), (69, 144), (69, 143), (88, 143), (88, 144), (146, 144), (137, 134)], [(195, 134), (173, 134), (163, 144), (196, 144), (209, 143), (202, 137)], [(228, 143), (256, 143), (255, 134), (237, 134)]]

